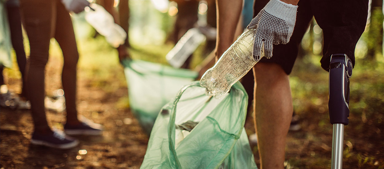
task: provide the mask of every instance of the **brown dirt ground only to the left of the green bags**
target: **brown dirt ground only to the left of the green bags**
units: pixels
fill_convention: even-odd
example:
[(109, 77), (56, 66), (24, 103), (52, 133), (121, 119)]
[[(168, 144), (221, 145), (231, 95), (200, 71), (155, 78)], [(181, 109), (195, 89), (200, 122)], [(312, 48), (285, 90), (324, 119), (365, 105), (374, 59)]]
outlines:
[[(51, 57), (47, 65), (46, 86), (58, 89), (61, 84), (60, 60)], [(120, 68), (122, 73), (122, 68)], [(79, 73), (79, 76), (82, 76)], [(114, 76), (114, 75), (112, 75)], [(10, 88), (17, 90), (18, 80), (10, 79)], [(127, 88), (120, 81), (110, 81), (114, 92), (107, 92), (94, 85), (89, 78), (78, 78), (78, 112), (95, 123), (103, 124), (103, 136), (81, 136), (78, 147), (57, 150), (29, 143), (33, 132), (30, 111), (1, 109), (0, 168), (4, 169), (126, 169), (139, 168), (143, 160), (148, 136), (140, 128), (129, 109), (117, 109), (118, 100), (127, 96)], [(63, 128), (63, 113), (48, 111), (51, 126)], [(86, 150), (86, 154), (84, 151)], [(81, 152), (82, 154), (79, 154)]]

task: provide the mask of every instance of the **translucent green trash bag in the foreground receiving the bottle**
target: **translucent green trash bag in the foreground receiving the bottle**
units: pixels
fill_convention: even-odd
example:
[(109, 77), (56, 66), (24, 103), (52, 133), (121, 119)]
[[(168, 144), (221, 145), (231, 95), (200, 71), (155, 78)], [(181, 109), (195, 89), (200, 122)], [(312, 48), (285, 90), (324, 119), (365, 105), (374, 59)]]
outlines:
[(220, 99), (206, 96), (198, 81), (185, 86), (157, 116), (140, 168), (257, 168), (244, 129), (247, 101), (239, 82)]

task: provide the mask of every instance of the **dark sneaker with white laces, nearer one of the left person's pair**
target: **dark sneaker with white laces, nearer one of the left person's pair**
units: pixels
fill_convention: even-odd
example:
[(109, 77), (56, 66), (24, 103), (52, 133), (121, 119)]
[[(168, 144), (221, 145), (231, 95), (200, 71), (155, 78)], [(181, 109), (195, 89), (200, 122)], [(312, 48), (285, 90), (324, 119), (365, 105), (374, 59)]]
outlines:
[(34, 132), (31, 144), (47, 146), (57, 149), (70, 149), (79, 144), (77, 139), (66, 136), (62, 131), (53, 131), (52, 134), (43, 135)]

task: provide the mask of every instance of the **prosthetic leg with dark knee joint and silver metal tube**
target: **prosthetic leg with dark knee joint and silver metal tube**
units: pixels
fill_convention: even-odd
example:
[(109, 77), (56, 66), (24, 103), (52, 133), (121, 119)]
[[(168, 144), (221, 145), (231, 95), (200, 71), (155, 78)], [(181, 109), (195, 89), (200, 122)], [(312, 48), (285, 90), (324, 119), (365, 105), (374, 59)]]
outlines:
[(349, 117), (349, 78), (352, 61), (346, 54), (333, 54), (329, 64), (329, 119), (333, 124), (331, 169), (343, 168), (344, 126)]

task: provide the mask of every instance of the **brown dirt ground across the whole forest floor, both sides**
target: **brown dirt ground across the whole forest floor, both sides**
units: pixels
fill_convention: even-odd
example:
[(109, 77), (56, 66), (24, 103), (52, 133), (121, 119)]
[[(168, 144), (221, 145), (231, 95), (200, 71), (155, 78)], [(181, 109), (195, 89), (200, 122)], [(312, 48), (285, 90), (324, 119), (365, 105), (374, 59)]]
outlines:
[[(50, 58), (46, 73), (46, 91), (60, 88), (61, 61)], [(140, 128), (129, 108), (119, 108), (117, 103), (127, 97), (124, 81), (119, 73), (110, 73), (109, 80), (94, 80), (79, 71), (78, 111), (86, 118), (103, 124), (103, 136), (82, 136), (78, 147), (70, 150), (56, 150), (41, 146), (31, 146), (33, 130), (30, 111), (1, 109), (0, 113), (0, 168), (1, 169), (125, 169), (139, 168), (144, 158), (148, 136)], [(20, 81), (14, 78), (6, 81), (9, 88), (18, 91)], [(108, 89), (105, 86), (109, 86)], [(326, 98), (325, 98), (326, 99)], [(124, 100), (124, 99), (123, 99)], [(324, 100), (324, 98), (323, 98)], [(381, 102), (382, 103), (382, 102)], [(300, 115), (302, 129), (288, 134), (286, 147), (287, 169), (330, 168), (332, 147), (332, 126), (327, 119), (328, 111), (316, 106), (306, 106), (296, 112)], [(384, 105), (377, 105), (378, 108)], [(382, 110), (382, 109), (381, 109)], [(361, 123), (360, 117), (350, 118), (346, 126), (344, 141), (344, 168), (379, 169), (384, 168), (384, 123), (383, 116)], [(51, 126), (63, 128), (63, 113), (48, 111)], [(324, 123), (324, 124), (323, 124)], [(353, 127), (355, 126), (355, 127)], [(356, 126), (359, 126), (356, 127)], [(247, 134), (254, 133), (252, 118), (246, 123)], [(251, 145), (258, 166), (257, 145)], [(83, 151), (86, 150), (86, 151)]]

